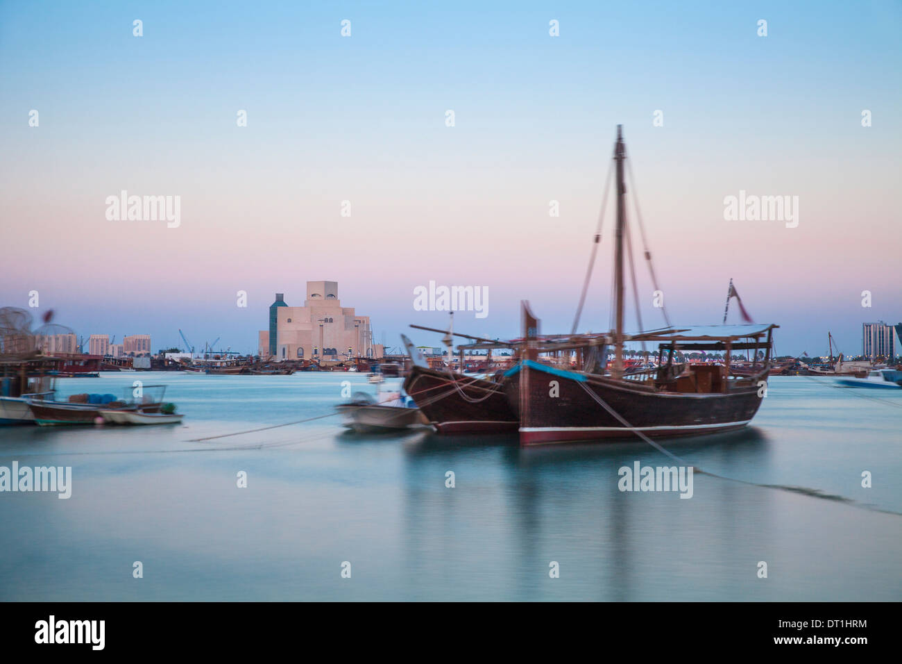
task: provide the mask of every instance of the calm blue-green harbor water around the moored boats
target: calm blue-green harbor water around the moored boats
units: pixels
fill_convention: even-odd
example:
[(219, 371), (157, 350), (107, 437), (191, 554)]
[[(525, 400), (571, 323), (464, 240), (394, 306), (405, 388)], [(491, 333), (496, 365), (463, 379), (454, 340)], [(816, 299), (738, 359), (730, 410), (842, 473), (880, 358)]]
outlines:
[(673, 465), (642, 442), (521, 450), (352, 435), (337, 417), (192, 440), (324, 415), (343, 380), (374, 391), (362, 374), (104, 373), (59, 388), (121, 394), (134, 379), (168, 385), (183, 426), (0, 429), (0, 466), (72, 468), (69, 500), (0, 493), (0, 599), (902, 599), (902, 390), (771, 379), (754, 426), (662, 442), (755, 483), (696, 473), (681, 500), (618, 490), (623, 465)]

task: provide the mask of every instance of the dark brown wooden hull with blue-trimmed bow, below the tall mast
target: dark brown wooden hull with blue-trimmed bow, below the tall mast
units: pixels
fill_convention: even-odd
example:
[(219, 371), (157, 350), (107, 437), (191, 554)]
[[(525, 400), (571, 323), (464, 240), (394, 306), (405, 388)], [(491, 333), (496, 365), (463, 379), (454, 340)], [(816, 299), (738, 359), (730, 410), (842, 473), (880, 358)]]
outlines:
[[(752, 386), (684, 394), (625, 382), (532, 366), (511, 370), (504, 386), (509, 402), (520, 404), (520, 444), (636, 438), (637, 431), (649, 437), (720, 433), (748, 425), (761, 405), (759, 390)], [(556, 397), (551, 396), (555, 389)]]

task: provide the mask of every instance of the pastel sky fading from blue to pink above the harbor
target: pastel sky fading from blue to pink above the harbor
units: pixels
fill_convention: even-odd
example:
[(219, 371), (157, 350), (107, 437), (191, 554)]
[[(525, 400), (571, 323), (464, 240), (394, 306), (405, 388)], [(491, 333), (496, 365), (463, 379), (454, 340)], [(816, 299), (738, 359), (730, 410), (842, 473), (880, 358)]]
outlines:
[[(902, 320), (900, 34), (898, 2), (2, 3), (0, 305), (255, 351), (274, 293), (329, 279), (396, 345), (445, 324), (413, 309), (434, 280), (489, 288), (460, 331), (517, 335), (524, 298), (568, 331), (622, 124), (674, 321), (720, 323), (732, 277), (781, 354), (861, 352)], [(107, 220), (122, 190), (179, 195), (179, 228)], [(797, 228), (724, 220), (741, 190), (798, 196)]]

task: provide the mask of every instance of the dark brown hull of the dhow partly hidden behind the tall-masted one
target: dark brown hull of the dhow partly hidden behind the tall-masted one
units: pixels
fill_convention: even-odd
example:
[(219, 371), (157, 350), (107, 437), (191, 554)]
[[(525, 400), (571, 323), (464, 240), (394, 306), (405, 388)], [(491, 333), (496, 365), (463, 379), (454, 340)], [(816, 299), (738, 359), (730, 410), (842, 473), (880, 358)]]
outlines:
[(491, 380), (413, 367), (404, 391), (440, 434), (496, 434), (520, 426), (504, 389)]

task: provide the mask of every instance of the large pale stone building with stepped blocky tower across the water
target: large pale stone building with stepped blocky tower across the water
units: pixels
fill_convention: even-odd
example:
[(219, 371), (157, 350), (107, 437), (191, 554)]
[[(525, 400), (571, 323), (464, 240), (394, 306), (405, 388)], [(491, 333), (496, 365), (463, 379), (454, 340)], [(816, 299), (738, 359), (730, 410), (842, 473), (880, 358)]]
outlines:
[(258, 341), (261, 357), (276, 360), (381, 356), (370, 317), (341, 305), (336, 281), (308, 281), (304, 306), (289, 306), (277, 293), (270, 329), (260, 331)]

